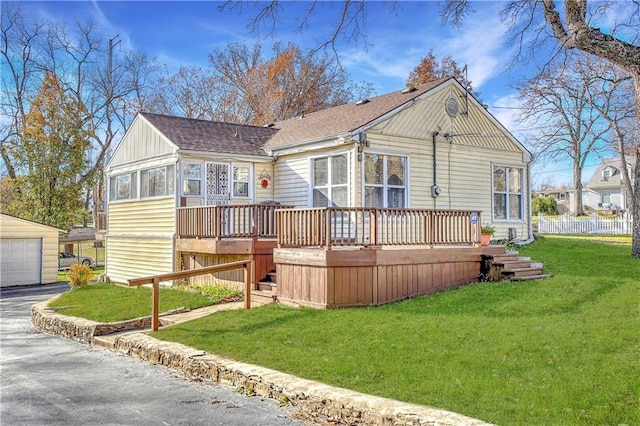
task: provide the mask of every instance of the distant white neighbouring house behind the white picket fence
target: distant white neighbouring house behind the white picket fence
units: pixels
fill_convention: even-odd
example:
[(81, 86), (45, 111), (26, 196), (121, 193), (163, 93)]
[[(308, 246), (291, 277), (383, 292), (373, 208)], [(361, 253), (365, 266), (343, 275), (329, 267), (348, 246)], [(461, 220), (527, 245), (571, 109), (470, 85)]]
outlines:
[[(635, 160), (631, 159), (628, 167), (633, 170)], [(616, 213), (628, 211), (631, 194), (625, 184), (624, 168), (619, 159), (603, 160), (596, 171), (584, 185), (582, 205), (585, 210)], [(632, 173), (629, 173), (632, 175)]]

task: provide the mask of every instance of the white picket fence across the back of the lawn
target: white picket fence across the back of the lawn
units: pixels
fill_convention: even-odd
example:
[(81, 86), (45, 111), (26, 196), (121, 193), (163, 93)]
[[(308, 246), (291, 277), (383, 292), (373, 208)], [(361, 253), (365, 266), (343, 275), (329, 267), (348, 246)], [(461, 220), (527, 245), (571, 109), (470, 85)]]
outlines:
[(631, 235), (633, 220), (631, 215), (606, 218), (597, 214), (576, 218), (568, 214), (560, 217), (538, 215), (538, 233), (540, 234), (617, 234)]

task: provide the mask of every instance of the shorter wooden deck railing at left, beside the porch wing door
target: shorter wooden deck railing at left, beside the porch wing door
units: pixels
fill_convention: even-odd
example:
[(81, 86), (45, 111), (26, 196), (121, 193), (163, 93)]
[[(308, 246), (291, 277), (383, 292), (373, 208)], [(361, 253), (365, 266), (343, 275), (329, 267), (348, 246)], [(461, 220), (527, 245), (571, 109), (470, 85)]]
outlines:
[(289, 208), (272, 204), (179, 207), (180, 238), (276, 238), (274, 212)]

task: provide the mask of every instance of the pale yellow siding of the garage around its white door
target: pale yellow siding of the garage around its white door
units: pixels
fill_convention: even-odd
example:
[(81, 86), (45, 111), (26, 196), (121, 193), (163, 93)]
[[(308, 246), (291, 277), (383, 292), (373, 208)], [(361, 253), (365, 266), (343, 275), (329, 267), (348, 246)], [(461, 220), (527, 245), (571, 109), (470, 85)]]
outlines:
[(24, 219), (0, 214), (0, 237), (42, 240), (41, 283), (58, 281), (58, 236), (60, 230)]

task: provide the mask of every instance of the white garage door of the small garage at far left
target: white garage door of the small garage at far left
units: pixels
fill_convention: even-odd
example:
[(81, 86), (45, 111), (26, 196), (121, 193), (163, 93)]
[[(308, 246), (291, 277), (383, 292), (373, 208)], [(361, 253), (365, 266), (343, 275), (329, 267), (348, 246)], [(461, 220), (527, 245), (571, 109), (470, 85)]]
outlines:
[(0, 286), (40, 284), (41, 238), (0, 240)]

